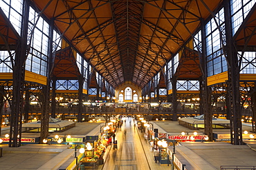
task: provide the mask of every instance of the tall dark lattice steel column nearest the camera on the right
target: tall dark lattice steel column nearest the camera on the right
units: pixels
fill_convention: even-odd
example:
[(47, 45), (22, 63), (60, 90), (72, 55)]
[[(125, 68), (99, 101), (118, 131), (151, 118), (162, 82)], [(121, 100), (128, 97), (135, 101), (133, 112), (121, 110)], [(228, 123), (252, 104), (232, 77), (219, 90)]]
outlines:
[[(221, 34), (221, 40), (226, 40), (224, 49), (228, 62), (228, 98), (230, 100), (230, 140), (233, 145), (242, 145), (242, 126), (241, 126), (241, 104), (239, 93), (239, 59), (235, 47), (232, 45), (232, 25), (230, 22), (230, 3), (225, 1), (224, 12), (226, 22), (226, 35)], [(221, 32), (223, 33), (223, 32)], [(224, 45), (224, 44), (223, 44)]]

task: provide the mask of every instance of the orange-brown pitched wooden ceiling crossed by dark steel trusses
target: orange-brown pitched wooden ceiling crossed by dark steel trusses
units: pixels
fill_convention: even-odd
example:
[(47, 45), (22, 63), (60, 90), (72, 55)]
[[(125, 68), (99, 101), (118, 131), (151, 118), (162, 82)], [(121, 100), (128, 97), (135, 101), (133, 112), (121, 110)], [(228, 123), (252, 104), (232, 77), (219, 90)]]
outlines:
[(147, 85), (221, 1), (34, 0), (113, 87)]

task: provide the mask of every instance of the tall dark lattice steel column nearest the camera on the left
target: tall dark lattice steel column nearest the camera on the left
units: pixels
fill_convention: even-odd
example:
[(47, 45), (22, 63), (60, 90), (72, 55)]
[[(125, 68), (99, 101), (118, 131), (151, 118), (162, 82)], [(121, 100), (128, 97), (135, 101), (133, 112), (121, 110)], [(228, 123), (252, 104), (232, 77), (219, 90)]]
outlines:
[(25, 61), (28, 36), (29, 2), (24, 1), (23, 22), (21, 25), (21, 42), (16, 52), (14, 67), (12, 68), (12, 104), (10, 116), (10, 141), (9, 147), (21, 146), (22, 109), (24, 95)]

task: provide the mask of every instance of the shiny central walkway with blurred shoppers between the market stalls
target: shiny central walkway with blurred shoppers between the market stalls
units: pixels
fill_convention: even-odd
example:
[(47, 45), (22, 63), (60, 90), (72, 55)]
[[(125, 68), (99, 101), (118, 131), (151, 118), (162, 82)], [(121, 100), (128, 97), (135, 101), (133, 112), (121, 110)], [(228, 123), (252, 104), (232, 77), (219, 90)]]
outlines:
[(150, 151), (149, 143), (145, 141), (138, 128), (134, 128), (134, 121), (131, 118), (126, 118), (126, 123), (118, 130), (116, 140), (118, 141), (118, 149), (113, 149), (112, 146), (107, 160), (105, 160), (104, 165), (100, 166), (99, 169), (171, 169), (171, 167), (167, 167), (167, 164), (154, 162), (154, 156)]

